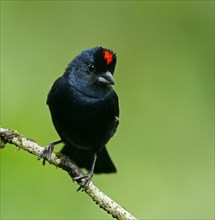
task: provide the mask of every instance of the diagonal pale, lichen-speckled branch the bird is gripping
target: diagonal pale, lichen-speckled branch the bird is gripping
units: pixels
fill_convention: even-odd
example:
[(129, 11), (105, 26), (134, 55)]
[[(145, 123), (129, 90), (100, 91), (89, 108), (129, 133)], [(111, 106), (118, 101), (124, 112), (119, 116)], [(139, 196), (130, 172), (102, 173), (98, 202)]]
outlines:
[[(0, 128), (0, 148), (4, 148), (7, 143), (13, 144), (20, 149), (28, 151), (37, 157), (44, 150), (44, 148), (39, 146), (34, 140), (20, 135), (17, 131)], [(74, 177), (80, 176), (81, 174), (84, 174), (83, 171), (73, 161), (60, 153), (56, 154), (53, 152), (48, 162), (68, 172), (72, 179)], [(81, 181), (79, 180), (77, 183), (80, 185)], [(92, 182), (90, 182), (86, 187), (85, 192), (96, 204), (103, 208), (107, 213), (111, 214), (114, 218), (136, 219), (131, 213), (122, 208), (122, 206), (101, 192)]]

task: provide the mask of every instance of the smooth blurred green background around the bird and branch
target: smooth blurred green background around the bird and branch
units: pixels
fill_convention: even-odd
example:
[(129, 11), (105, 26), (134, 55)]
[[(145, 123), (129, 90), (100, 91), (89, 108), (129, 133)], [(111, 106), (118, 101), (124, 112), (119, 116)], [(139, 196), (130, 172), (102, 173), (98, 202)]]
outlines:
[[(93, 182), (139, 219), (213, 219), (213, 22), (213, 1), (1, 1), (0, 123), (57, 140), (51, 85), (82, 50), (110, 48), (118, 173)], [(62, 170), (0, 153), (1, 219), (111, 219)]]

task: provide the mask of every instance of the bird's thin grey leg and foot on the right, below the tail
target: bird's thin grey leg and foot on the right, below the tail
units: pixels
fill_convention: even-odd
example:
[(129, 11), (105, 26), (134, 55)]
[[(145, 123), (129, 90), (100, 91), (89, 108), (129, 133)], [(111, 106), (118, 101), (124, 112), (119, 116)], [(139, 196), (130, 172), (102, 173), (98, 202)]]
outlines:
[(77, 189), (77, 191), (79, 191), (81, 188), (84, 191), (86, 189), (86, 187), (89, 185), (89, 183), (90, 183), (90, 181), (93, 177), (93, 174), (94, 174), (94, 168), (95, 168), (96, 160), (97, 160), (97, 153), (94, 154), (93, 163), (92, 163), (90, 171), (87, 174), (80, 175), (80, 176), (77, 176), (77, 177), (73, 178), (76, 181), (77, 180), (82, 181), (80, 183), (81, 186)]

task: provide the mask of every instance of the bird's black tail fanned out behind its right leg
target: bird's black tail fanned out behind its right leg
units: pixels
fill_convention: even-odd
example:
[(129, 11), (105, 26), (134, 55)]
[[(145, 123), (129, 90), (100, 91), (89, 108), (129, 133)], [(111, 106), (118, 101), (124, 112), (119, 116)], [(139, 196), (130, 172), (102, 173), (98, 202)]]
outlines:
[[(80, 168), (86, 168), (87, 170), (91, 169), (94, 151), (90, 150), (81, 150), (76, 147), (73, 147), (70, 144), (65, 144), (61, 153), (68, 156), (73, 160)], [(94, 173), (115, 173), (116, 167), (114, 166), (106, 147), (103, 147), (98, 152), (97, 161), (94, 168)]]

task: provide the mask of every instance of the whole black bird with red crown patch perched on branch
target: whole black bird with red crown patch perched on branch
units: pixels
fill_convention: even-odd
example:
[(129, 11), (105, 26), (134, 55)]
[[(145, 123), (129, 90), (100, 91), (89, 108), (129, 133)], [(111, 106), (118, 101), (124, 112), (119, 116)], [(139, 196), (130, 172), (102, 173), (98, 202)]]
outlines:
[(95, 47), (83, 51), (68, 65), (53, 84), (47, 99), (53, 124), (60, 140), (51, 142), (41, 157), (49, 158), (54, 145), (65, 143), (61, 153), (89, 172), (83, 189), (93, 173), (113, 173), (116, 168), (105, 145), (119, 124), (117, 94), (112, 89), (116, 54)]

